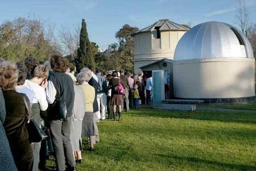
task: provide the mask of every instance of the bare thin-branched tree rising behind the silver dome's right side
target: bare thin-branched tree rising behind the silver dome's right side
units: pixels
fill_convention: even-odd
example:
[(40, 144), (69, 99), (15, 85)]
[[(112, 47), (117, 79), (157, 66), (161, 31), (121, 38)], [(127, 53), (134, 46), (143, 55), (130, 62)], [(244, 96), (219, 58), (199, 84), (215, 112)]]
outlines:
[(236, 20), (242, 33), (249, 36), (253, 24), (250, 22), (250, 12), (247, 9), (246, 0), (237, 0)]

